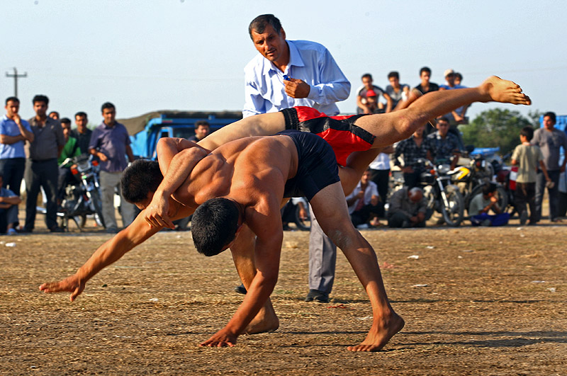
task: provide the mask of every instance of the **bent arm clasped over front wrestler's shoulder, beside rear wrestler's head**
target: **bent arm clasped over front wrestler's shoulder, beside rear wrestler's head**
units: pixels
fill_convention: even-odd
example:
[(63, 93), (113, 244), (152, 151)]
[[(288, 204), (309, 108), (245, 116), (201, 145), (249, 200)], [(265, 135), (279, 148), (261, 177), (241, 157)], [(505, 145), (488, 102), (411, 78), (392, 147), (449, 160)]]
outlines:
[(201, 161), (209, 151), (195, 142), (183, 138), (164, 137), (157, 142), (157, 160), (164, 179), (159, 184), (152, 197), (152, 202), (144, 211), (145, 220), (150, 226), (175, 226), (170, 219), (169, 196), (177, 190), (189, 177), (198, 161)]

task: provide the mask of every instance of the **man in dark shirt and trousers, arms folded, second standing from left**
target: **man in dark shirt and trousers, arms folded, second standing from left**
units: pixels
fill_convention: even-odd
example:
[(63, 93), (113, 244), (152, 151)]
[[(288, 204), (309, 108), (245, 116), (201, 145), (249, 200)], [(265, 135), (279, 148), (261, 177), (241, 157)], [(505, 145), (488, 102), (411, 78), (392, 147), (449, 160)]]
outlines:
[[(57, 156), (65, 144), (63, 129), (58, 120), (47, 116), (49, 98), (33, 97), (35, 117), (28, 120), (33, 131), (33, 142), (28, 146), (26, 161), (26, 224), (23, 232), (33, 232), (36, 205), (40, 188), (45, 192), (45, 224), (50, 232), (63, 232), (57, 226)], [(26, 145), (27, 146), (27, 145)]]

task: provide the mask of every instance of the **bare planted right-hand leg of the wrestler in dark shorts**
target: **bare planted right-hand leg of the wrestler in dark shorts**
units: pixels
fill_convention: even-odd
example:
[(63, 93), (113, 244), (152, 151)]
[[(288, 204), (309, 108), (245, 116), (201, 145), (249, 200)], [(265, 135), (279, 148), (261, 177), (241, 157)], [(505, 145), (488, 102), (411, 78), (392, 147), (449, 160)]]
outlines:
[(404, 326), (388, 301), (374, 249), (350, 222), (347, 203), (339, 183), (320, 190), (311, 205), (327, 235), (347, 256), (372, 304), (373, 321), (366, 339), (349, 351), (379, 351)]

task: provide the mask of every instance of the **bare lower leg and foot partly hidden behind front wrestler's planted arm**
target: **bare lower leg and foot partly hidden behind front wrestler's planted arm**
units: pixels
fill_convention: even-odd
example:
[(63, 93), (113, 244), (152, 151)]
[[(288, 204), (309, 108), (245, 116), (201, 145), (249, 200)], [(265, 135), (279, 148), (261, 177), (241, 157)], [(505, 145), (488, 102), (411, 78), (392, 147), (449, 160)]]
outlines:
[[(254, 265), (254, 239), (254, 233), (244, 225), (235, 242), (230, 247), (232, 260), (247, 290), (254, 279), (254, 275), (256, 275), (256, 266)], [(279, 319), (276, 316), (274, 307), (271, 305), (271, 300), (268, 299), (264, 307), (259, 310), (256, 317), (250, 321), (250, 324), (248, 324), (245, 329), (245, 333), (264, 333), (266, 331), (275, 331), (278, 327)]]

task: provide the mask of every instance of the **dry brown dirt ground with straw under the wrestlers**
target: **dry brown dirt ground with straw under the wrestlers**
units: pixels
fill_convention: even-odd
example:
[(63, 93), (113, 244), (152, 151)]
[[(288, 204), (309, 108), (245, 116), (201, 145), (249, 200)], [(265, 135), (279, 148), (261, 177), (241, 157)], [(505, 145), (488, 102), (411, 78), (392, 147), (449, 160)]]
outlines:
[(73, 303), (39, 292), (111, 238), (90, 230), (0, 238), (0, 375), (567, 375), (565, 224), (364, 231), (406, 321), (378, 353), (346, 349), (371, 307), (342, 253), (332, 302), (303, 302), (307, 232), (284, 236), (280, 329), (218, 349), (198, 343), (237, 309), (239, 280), (190, 232), (157, 234)]

